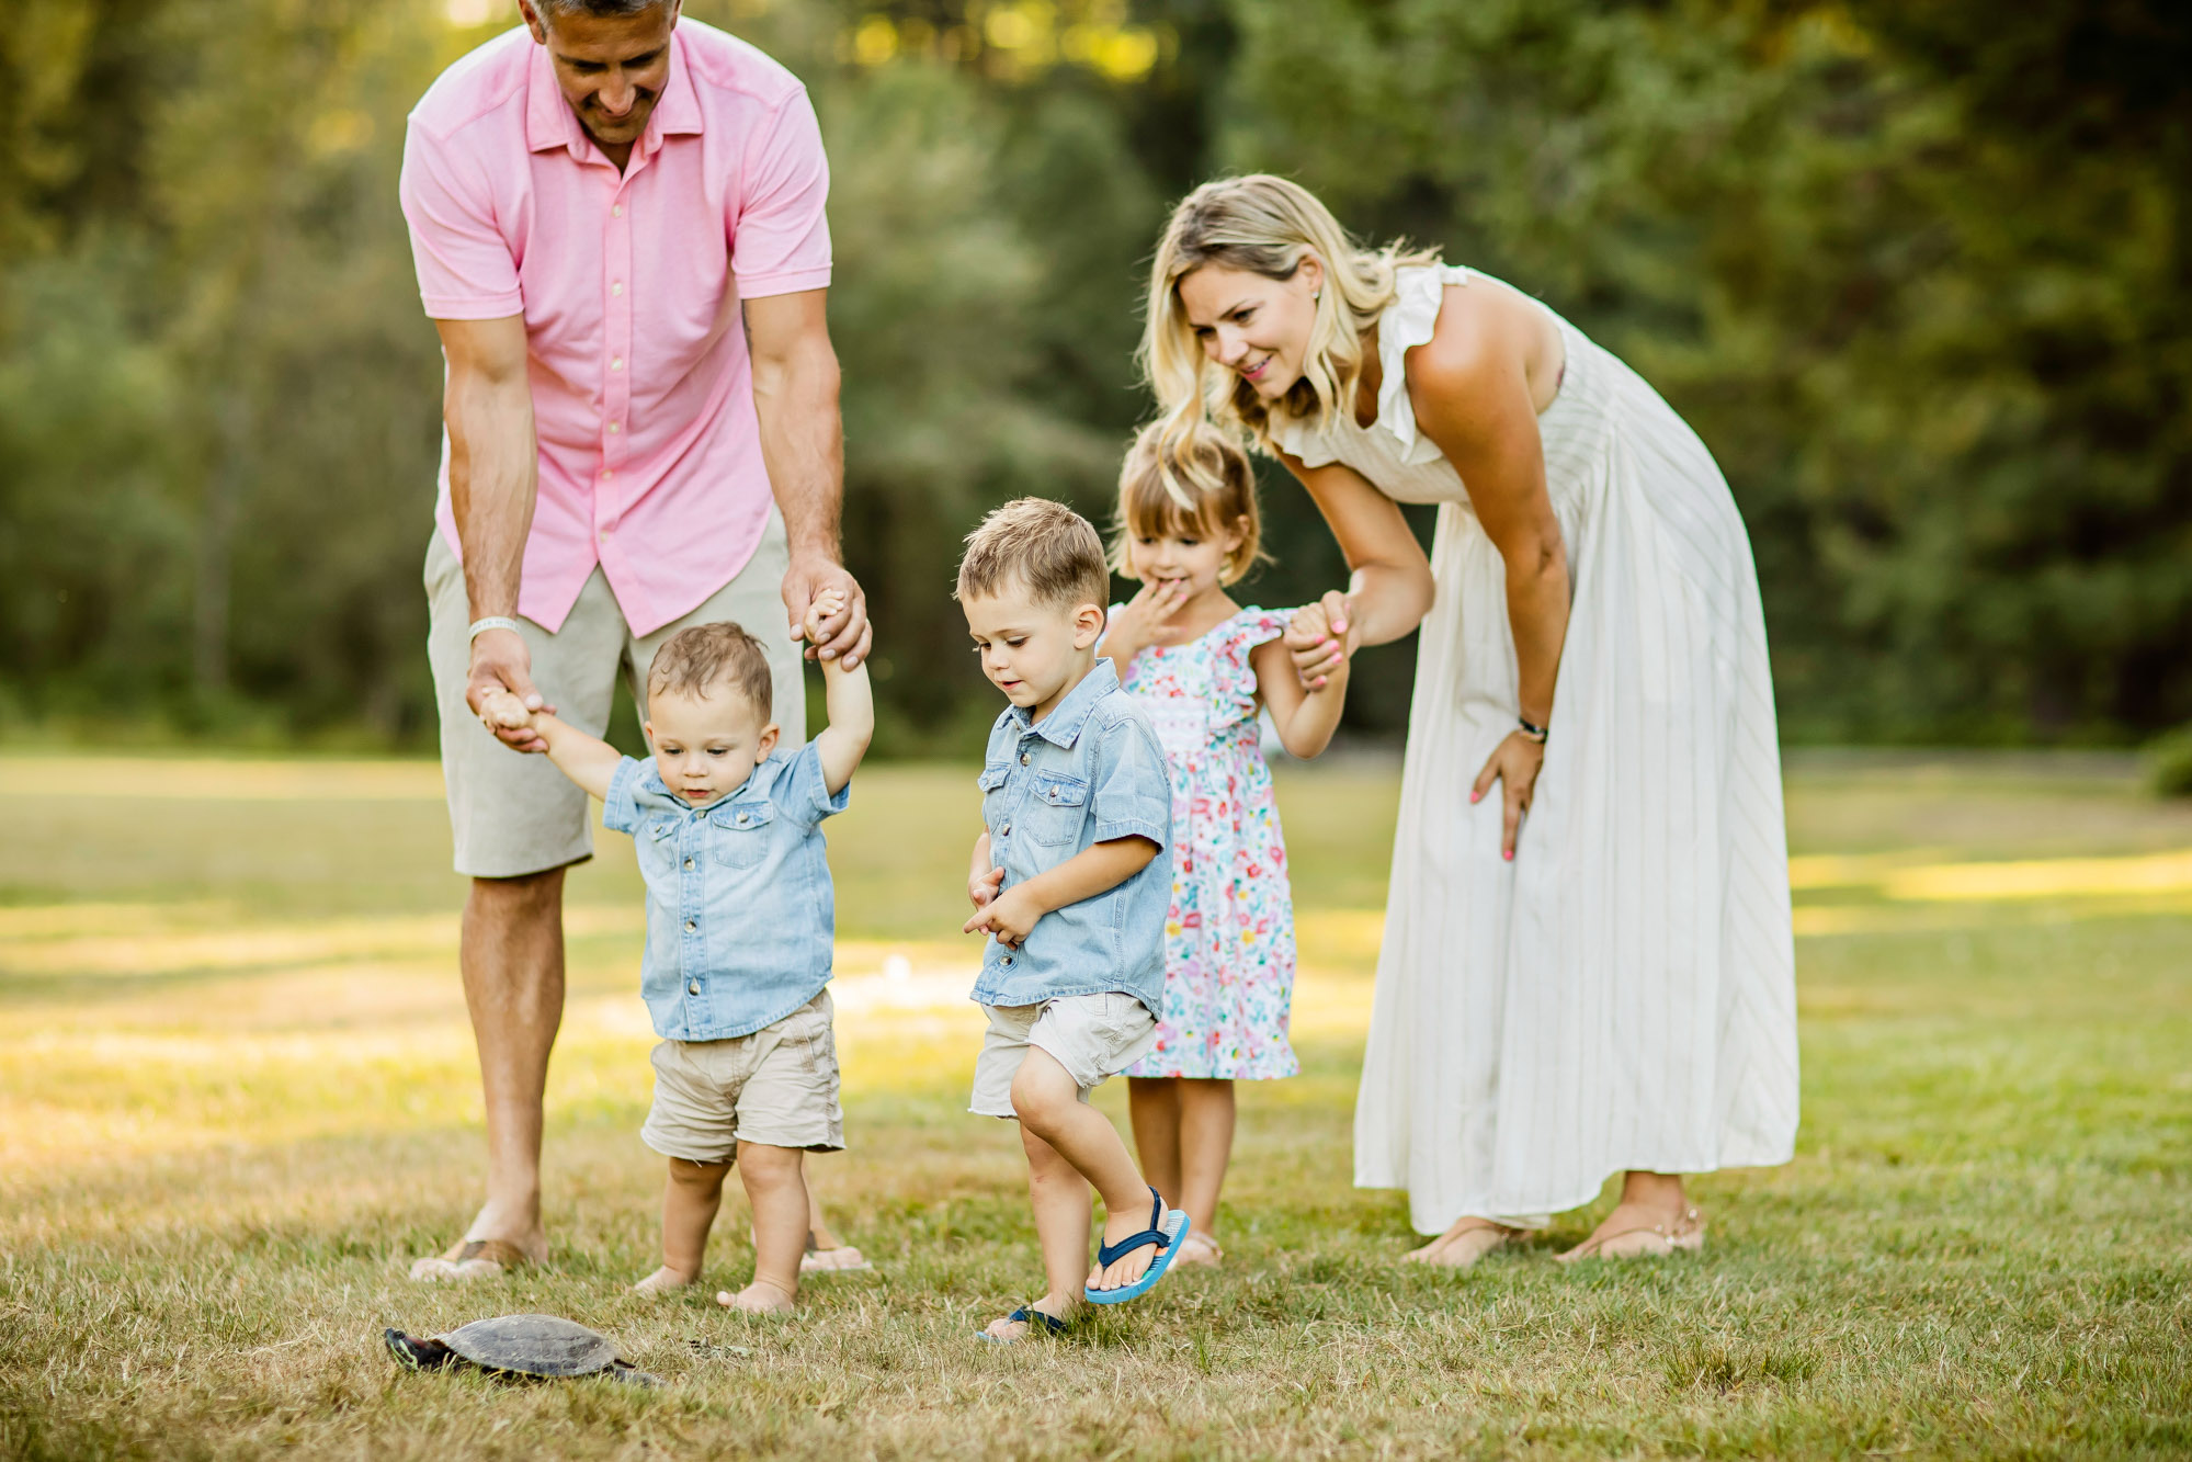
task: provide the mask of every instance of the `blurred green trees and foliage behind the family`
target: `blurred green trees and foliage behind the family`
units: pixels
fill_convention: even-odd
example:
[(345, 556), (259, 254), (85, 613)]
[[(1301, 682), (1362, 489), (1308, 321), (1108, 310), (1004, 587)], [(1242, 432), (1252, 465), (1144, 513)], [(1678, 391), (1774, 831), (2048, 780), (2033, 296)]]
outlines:
[[(1173, 197), (1269, 169), (1543, 296), (1727, 469), (1784, 734), (2192, 721), (2192, 11), (688, 0), (811, 85), (886, 745), (993, 715), (991, 502), (1109, 506)], [(403, 116), (506, 0), (11, 0), (0, 730), (423, 747)], [(1295, 603), (1342, 566), (1267, 480)], [(1392, 734), (1407, 647), (1350, 708)]]

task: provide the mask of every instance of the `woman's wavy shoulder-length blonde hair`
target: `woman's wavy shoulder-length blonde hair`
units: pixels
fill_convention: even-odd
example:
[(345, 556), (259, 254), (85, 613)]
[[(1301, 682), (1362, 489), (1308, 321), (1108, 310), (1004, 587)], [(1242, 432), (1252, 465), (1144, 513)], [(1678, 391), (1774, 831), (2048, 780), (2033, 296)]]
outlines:
[[(1306, 254), (1324, 263), (1309, 353), (1302, 379), (1269, 406), (1254, 386), (1210, 366), (1179, 302), (1179, 281), (1206, 263), (1287, 281)], [(1394, 270), (1420, 263), (1438, 263), (1438, 254), (1401, 243), (1363, 248), (1315, 193), (1269, 173), (1206, 182), (1179, 199), (1151, 263), (1140, 353), (1164, 412), (1160, 445), (1175, 473), (1195, 480), (1184, 452), (1199, 421), (1243, 432), (1269, 452), (1274, 416), (1322, 427), (1344, 410), (1361, 379), (1363, 333), (1392, 305)]]

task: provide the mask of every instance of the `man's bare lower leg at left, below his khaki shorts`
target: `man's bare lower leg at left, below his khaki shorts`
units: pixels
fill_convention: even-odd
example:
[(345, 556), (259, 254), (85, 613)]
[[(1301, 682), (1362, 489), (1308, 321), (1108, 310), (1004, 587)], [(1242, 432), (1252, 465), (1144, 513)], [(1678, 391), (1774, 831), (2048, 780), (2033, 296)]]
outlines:
[[(541, 1096), (548, 1052), (563, 1024), (563, 870), (473, 879), (458, 967), (487, 1098), (487, 1203), (465, 1241), (500, 1238), (544, 1260)], [(412, 1276), (436, 1265), (447, 1269), (425, 1258)]]

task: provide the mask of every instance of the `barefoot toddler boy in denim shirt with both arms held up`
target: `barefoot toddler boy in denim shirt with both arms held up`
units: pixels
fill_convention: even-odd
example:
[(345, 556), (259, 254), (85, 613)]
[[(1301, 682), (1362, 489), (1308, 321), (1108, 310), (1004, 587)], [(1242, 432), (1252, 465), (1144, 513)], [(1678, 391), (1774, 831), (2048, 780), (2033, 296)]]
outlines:
[[(824, 594), (807, 638), (842, 609)], [(671, 638), (647, 671), (647, 741), (633, 761), (515, 695), (484, 719), (533, 726), (548, 758), (631, 833), (647, 879), (640, 993), (653, 1017), (655, 1105), (640, 1138), (669, 1157), (662, 1267), (640, 1293), (699, 1282), (732, 1162), (754, 1210), (754, 1280), (717, 1302), (783, 1313), (800, 1287), (800, 1153), (844, 1149), (831, 1030), (835, 899), (822, 820), (844, 811), (875, 734), (868, 666), (822, 662), (829, 726), (787, 754), (769, 721), (767, 651), (730, 623)]]

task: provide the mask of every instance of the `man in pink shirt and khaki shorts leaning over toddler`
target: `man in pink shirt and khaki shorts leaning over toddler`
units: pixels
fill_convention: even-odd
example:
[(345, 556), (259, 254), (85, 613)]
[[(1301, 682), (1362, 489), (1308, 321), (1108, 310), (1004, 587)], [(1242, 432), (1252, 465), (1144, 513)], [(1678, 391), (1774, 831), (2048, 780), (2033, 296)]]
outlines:
[[(844, 452), (829, 162), (800, 81), (677, 0), (517, 0), (524, 28), (452, 66), (410, 116), (403, 215), (447, 359), (430, 660), (460, 962), (487, 1094), (487, 1203), (419, 1278), (546, 1256), (541, 1094), (563, 1015), (563, 870), (585, 796), (509, 688), (598, 734), (616, 675), (693, 623), (769, 647), (774, 717), (804, 741), (809, 655), (857, 664), (866, 601), (837, 552)], [(640, 693), (644, 704), (644, 693)]]

